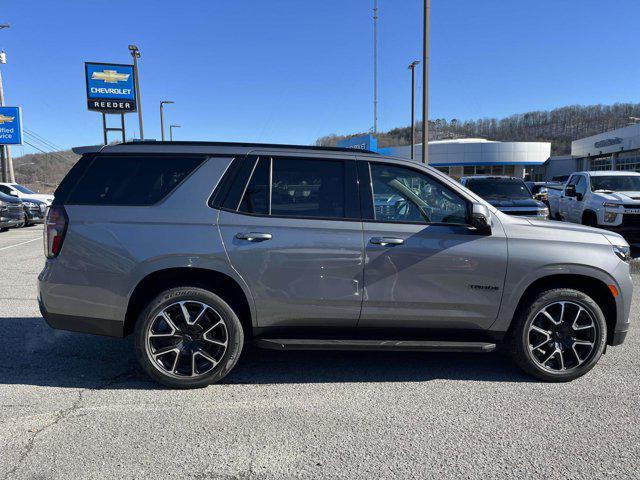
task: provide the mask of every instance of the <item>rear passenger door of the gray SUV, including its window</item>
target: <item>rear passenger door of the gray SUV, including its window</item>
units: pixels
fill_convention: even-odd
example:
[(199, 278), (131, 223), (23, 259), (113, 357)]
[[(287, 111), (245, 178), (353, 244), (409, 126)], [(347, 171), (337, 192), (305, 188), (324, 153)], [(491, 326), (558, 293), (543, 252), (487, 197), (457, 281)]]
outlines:
[[(220, 212), (229, 260), (260, 327), (354, 327), (364, 246), (355, 161), (261, 155)], [(239, 200), (238, 200), (239, 199)]]

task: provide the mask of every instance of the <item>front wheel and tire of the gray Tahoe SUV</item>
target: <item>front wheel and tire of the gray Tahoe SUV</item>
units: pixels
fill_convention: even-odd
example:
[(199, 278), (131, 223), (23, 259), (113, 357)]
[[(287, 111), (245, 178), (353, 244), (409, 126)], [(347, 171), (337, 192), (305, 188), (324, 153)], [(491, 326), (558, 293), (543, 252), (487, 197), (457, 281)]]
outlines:
[[(558, 319), (560, 325), (554, 323)], [(607, 322), (598, 304), (578, 290), (557, 288), (541, 292), (520, 309), (507, 347), (528, 374), (547, 382), (570, 382), (598, 363), (606, 341)]]

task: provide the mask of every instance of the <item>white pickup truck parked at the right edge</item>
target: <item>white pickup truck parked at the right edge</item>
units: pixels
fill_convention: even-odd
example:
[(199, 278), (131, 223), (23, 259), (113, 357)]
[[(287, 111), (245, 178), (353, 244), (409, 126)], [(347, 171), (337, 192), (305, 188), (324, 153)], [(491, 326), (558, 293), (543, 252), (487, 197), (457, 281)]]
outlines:
[(549, 189), (551, 218), (621, 234), (640, 243), (640, 173), (576, 172), (560, 190)]

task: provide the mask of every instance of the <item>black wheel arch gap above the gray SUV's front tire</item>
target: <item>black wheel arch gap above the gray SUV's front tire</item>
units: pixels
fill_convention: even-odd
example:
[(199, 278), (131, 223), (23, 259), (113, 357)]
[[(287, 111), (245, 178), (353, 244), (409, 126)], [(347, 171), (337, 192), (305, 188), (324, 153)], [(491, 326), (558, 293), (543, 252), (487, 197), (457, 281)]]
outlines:
[(588, 275), (565, 273), (548, 275), (534, 280), (520, 296), (513, 313), (511, 325), (513, 324), (513, 318), (526, 308), (540, 292), (554, 288), (571, 288), (581, 291), (593, 298), (602, 309), (602, 313), (607, 322), (607, 344), (612, 344), (618, 308), (615, 298), (605, 282)]

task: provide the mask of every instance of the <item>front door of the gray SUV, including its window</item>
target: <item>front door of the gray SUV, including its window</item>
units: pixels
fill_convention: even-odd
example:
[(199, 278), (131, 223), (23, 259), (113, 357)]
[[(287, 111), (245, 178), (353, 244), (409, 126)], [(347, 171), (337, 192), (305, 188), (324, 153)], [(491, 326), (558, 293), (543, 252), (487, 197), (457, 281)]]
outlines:
[[(364, 223), (366, 263), (359, 327), (488, 328), (496, 319), (507, 241), (467, 225), (470, 202), (423, 169), (362, 162), (373, 215)], [(362, 169), (361, 169), (362, 175)], [(367, 181), (369, 180), (370, 181)], [(364, 214), (364, 212), (363, 212)]]

